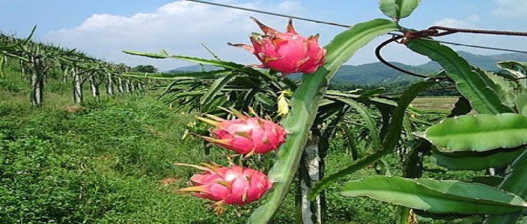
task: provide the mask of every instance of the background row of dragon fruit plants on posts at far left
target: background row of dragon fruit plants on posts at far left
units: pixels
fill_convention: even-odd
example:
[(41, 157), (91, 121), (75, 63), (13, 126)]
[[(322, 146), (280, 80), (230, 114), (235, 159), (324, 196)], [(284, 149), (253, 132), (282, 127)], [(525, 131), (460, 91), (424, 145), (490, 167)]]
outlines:
[[(67, 82), (67, 77), (72, 78), (73, 99), (80, 104), (84, 99), (82, 85), (89, 80), (93, 97), (98, 98), (99, 86), (106, 83), (107, 93), (114, 93), (114, 79), (119, 80), (119, 90), (122, 90), (122, 77), (120, 73), (128, 71), (124, 64), (110, 64), (103, 60), (89, 57), (75, 49), (62, 48), (56, 45), (37, 43), (31, 41), (36, 27), (24, 39), (0, 34), (0, 76), (8, 58), (20, 61), (22, 76), (28, 76), (31, 85), (30, 99), (35, 107), (41, 106), (44, 99), (44, 83), (50, 77), (48, 71), (62, 72), (62, 79)], [(154, 66), (138, 66), (145, 72), (157, 71)], [(129, 83), (130, 80), (124, 80)], [(141, 83), (142, 84), (142, 83)], [(142, 86), (141, 86), (142, 87)], [(135, 87), (132, 87), (135, 88)]]

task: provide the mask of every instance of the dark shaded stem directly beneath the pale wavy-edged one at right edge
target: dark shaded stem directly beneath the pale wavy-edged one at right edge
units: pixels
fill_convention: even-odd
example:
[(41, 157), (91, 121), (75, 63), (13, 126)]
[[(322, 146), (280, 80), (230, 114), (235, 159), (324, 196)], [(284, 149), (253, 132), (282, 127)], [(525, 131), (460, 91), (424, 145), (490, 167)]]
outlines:
[(523, 153), (523, 147), (514, 151), (503, 151), (483, 156), (450, 157), (448, 153), (434, 153), (437, 165), (452, 170), (483, 170), (490, 167), (504, 167)]

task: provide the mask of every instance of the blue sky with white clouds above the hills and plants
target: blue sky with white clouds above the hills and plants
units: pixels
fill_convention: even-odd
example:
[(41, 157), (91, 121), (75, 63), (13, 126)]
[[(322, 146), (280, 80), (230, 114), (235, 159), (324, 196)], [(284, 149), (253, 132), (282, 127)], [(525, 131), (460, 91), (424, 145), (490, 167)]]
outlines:
[[(212, 0), (209, 0), (212, 1)], [(253, 1), (220, 0), (247, 8), (271, 10), (318, 20), (353, 25), (357, 22), (383, 18), (377, 0), (356, 1)], [(401, 22), (405, 27), (424, 29), (431, 25), (476, 29), (507, 29), (527, 31), (527, 1), (525, 0), (423, 0), (419, 8)], [(35, 39), (77, 48), (89, 55), (130, 65), (154, 64), (162, 70), (190, 65), (174, 60), (154, 60), (124, 55), (131, 49), (157, 52), (166, 49), (172, 54), (211, 57), (200, 42), (212, 48), (222, 59), (242, 64), (258, 64), (243, 50), (226, 42), (249, 43), (251, 32), (259, 31), (249, 16), (285, 29), (287, 19), (240, 10), (207, 6), (188, 1), (169, 0), (0, 0), (0, 31), (26, 36), (37, 25)], [(323, 45), (343, 31), (341, 27), (295, 21), (300, 34), (319, 33)], [(349, 64), (376, 62), (372, 50), (387, 36), (377, 38), (353, 57)], [(441, 38), (476, 45), (527, 50), (527, 38), (455, 34)], [(501, 52), (456, 48), (477, 54)], [(417, 56), (400, 45), (390, 45), (383, 55), (392, 61), (422, 64)]]

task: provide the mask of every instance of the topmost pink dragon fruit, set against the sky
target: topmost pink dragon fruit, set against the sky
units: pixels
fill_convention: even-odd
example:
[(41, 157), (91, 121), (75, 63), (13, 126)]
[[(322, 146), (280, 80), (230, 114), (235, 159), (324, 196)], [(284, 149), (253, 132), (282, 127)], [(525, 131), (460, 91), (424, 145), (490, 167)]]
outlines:
[(280, 71), (283, 75), (289, 73), (313, 73), (325, 62), (324, 48), (318, 45), (318, 34), (304, 38), (294, 31), (292, 20), (289, 20), (287, 31), (281, 33), (275, 29), (263, 25), (260, 21), (252, 18), (265, 35), (252, 34), (252, 46), (246, 44), (230, 45), (245, 48), (256, 55), (262, 63), (257, 67)]

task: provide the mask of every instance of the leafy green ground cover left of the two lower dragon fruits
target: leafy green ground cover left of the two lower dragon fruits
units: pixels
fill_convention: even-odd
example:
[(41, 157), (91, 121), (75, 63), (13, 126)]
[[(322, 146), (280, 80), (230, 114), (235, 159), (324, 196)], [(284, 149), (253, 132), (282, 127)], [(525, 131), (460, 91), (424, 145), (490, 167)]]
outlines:
[(1, 106), (9, 111), (0, 120), (2, 223), (242, 223), (235, 211), (217, 217), (173, 193), (190, 176), (174, 162), (225, 154), (186, 156), (204, 150), (195, 139), (181, 141), (190, 116), (133, 96), (74, 112), (66, 105)]

